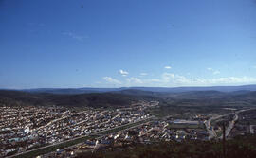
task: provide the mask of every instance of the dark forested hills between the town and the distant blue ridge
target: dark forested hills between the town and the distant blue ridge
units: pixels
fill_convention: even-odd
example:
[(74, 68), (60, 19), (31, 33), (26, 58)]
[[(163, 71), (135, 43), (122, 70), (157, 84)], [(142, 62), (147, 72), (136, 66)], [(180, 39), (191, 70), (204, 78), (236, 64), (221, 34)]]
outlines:
[(141, 90), (122, 90), (85, 94), (0, 91), (0, 105), (120, 107), (130, 105), (132, 102), (139, 100), (158, 100), (160, 105), (171, 106), (252, 106), (256, 105), (256, 91), (157, 93)]

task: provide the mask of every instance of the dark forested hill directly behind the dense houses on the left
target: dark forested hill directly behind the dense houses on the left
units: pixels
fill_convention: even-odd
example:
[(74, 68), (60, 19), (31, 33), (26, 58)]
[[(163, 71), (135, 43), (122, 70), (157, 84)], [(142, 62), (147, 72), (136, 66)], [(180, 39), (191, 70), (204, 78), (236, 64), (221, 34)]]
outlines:
[(0, 91), (0, 104), (5, 105), (57, 105), (69, 107), (119, 107), (139, 100), (152, 99), (114, 93), (91, 93), (78, 95), (56, 95), (46, 93), (27, 93), (20, 91)]

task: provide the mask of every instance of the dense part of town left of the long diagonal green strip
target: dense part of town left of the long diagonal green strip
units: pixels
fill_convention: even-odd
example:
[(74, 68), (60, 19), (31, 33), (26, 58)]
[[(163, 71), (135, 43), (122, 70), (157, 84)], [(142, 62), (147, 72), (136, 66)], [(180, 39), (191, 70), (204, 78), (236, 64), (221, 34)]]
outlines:
[(0, 156), (56, 144), (79, 136), (134, 123), (149, 117), (140, 102), (116, 110), (70, 110), (64, 107), (0, 107)]

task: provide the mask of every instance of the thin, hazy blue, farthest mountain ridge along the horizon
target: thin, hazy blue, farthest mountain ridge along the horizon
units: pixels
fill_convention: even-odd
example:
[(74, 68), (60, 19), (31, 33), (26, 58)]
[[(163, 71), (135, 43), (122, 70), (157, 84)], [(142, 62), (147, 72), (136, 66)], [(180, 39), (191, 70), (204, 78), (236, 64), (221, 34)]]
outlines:
[(38, 88), (38, 89), (23, 89), (21, 91), (30, 92), (30, 93), (50, 93), (50, 94), (88, 94), (88, 93), (118, 92), (123, 90), (140, 90), (140, 91), (161, 92), (161, 93), (181, 93), (181, 92), (190, 92), (190, 91), (234, 92), (234, 91), (256, 91), (256, 85), (174, 87), (174, 88), (169, 88), (169, 87)]

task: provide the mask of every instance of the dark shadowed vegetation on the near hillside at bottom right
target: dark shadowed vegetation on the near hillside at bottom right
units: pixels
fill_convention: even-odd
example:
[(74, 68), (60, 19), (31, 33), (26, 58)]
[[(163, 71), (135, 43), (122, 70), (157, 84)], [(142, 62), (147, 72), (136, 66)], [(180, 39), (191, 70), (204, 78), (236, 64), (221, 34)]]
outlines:
[(253, 158), (256, 157), (256, 136), (240, 136), (226, 142), (184, 141), (132, 145), (126, 149), (82, 153), (78, 158)]

